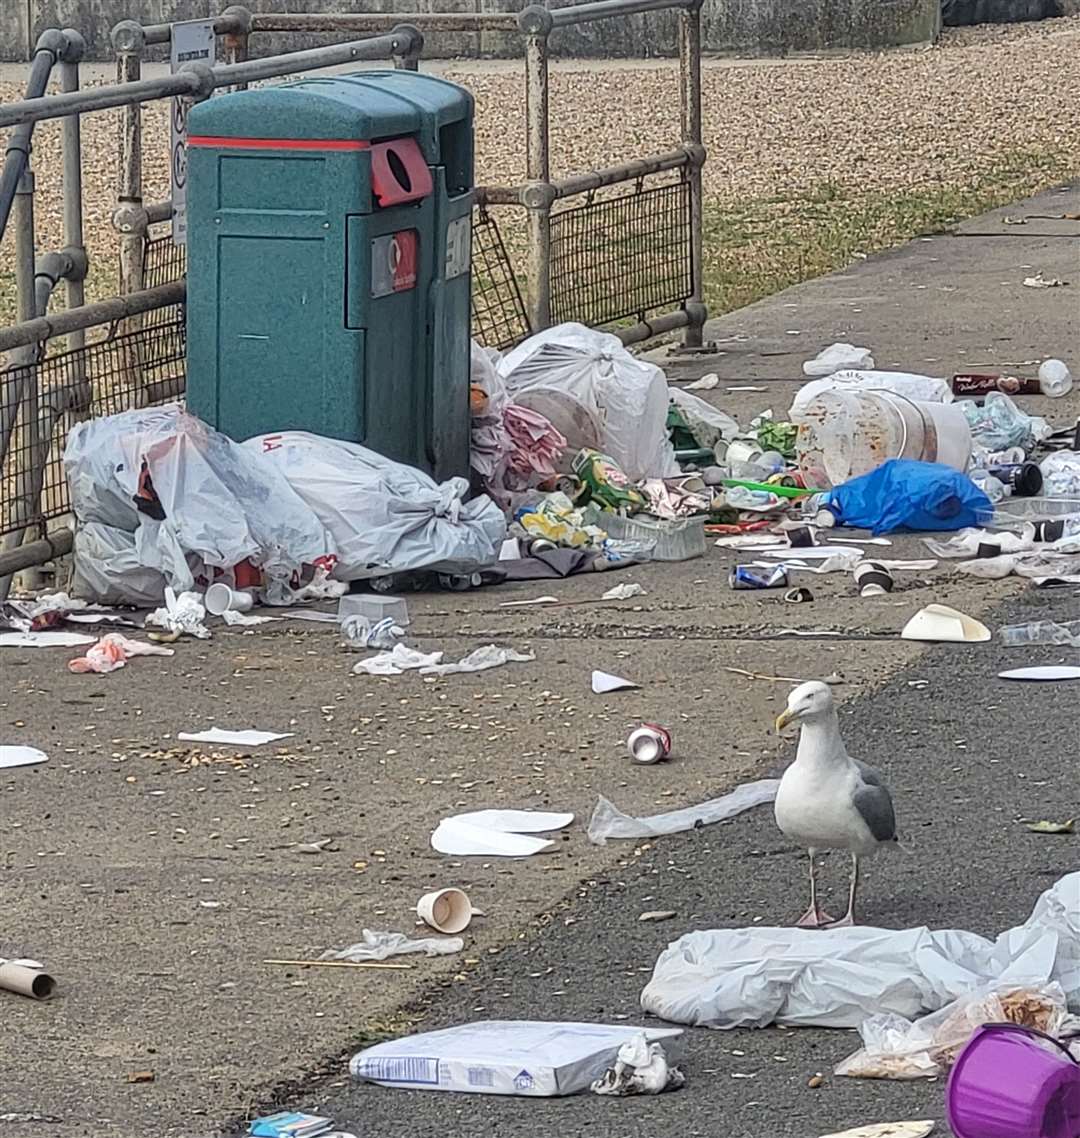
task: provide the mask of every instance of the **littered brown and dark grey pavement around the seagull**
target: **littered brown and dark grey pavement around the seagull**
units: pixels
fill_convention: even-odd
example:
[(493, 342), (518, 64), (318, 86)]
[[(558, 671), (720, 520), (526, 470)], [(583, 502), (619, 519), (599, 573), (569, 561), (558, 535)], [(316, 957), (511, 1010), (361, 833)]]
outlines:
[[(872, 347), (880, 366), (941, 374), (1074, 357), (1080, 226), (1029, 216), (1066, 213), (1080, 213), (1080, 185), (733, 313), (709, 328), (722, 354), (666, 366), (673, 380), (717, 372), (710, 401), (745, 420), (785, 409), (801, 361), (834, 339)], [(1023, 288), (1037, 271), (1073, 283)], [(726, 390), (748, 384), (766, 390)], [(1023, 405), (1065, 424), (1080, 393)], [(893, 555), (920, 549), (898, 538)], [(879, 600), (854, 597), (846, 577), (815, 577), (814, 603), (788, 605), (731, 592), (732, 561), (710, 549), (600, 578), (410, 595), (421, 648), (455, 657), (494, 641), (536, 653), (480, 676), (354, 677), (331, 630), (292, 621), (219, 630), (106, 677), (69, 675), (68, 653), (3, 650), (5, 742), (41, 747), (50, 761), (0, 776), (0, 953), (44, 959), (60, 995), (3, 997), (0, 1119), (57, 1121), (0, 1121), (0, 1138), (203, 1138), (286, 1103), (325, 1107), (357, 1135), (437, 1127), (448, 1138), (493, 1127), (618, 1138), (718, 1125), (732, 1138), (815, 1138), (941, 1119), (938, 1083), (833, 1079), (856, 1037), (816, 1030), (689, 1032), (686, 1088), (648, 1100), (525, 1104), (348, 1085), (348, 1055), (388, 1033), (481, 1016), (636, 1020), (656, 956), (682, 932), (801, 912), (803, 858), (767, 809), (605, 847), (575, 823), (554, 852), (506, 864), (429, 846), (438, 819), (462, 809), (567, 809), (585, 820), (602, 793), (629, 813), (658, 813), (778, 770), (791, 745), (770, 725), (788, 684), (728, 669), (842, 675), (849, 745), (887, 774), (913, 835), (906, 857), (871, 867), (866, 922), (992, 933), (1075, 866), (1078, 839), (1020, 824), (1078, 813), (1074, 696), (996, 678), (1005, 662), (1062, 651), (925, 650), (897, 637), (930, 601), (996, 627), (1075, 618), (1074, 591), (975, 583), (941, 567), (902, 575)], [(616, 580), (648, 595), (599, 603)], [(564, 603), (501, 607), (543, 593)], [(594, 696), (593, 668), (642, 688)], [(623, 754), (643, 719), (673, 726), (668, 765), (632, 768)], [(294, 735), (248, 752), (175, 739), (212, 724)], [(325, 838), (321, 853), (297, 851)], [(826, 874), (838, 898), (846, 871), (833, 859)], [(311, 959), (362, 927), (410, 931), (410, 907), (442, 884), (465, 888), (488, 914), (462, 958), (402, 972), (263, 963)], [(657, 908), (676, 916), (638, 922)], [(130, 1081), (135, 1072), (152, 1081)], [(818, 1072), (824, 1086), (808, 1087)]]

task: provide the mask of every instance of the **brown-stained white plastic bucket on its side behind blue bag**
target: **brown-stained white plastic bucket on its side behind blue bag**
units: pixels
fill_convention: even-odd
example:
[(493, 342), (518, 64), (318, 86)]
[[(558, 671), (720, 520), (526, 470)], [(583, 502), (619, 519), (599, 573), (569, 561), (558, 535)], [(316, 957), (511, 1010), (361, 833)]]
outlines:
[(958, 404), (922, 403), (885, 390), (830, 390), (792, 421), (807, 486), (827, 489), (876, 470), (889, 459), (943, 462), (966, 470), (971, 428)]

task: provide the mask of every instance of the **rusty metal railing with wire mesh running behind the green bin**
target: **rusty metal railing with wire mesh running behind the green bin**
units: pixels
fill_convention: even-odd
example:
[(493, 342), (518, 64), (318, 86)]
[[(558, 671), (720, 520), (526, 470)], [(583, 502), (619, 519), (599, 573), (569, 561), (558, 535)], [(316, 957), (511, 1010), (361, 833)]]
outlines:
[[(214, 90), (357, 60), (390, 59), (417, 69), (423, 30), (497, 31), (520, 34), (525, 56), (526, 181), (480, 185), (473, 223), (473, 335), (509, 347), (554, 321), (611, 325), (624, 343), (683, 331), (687, 347), (701, 345), (702, 303), (701, 168), (701, 0), (595, 0), (549, 10), (534, 6), (505, 13), (252, 14), (226, 8), (214, 19), (225, 63), (186, 64), (173, 74), (145, 79), (147, 48), (166, 44), (172, 26), (124, 20), (113, 28), (115, 84), (81, 90), (81, 39), (74, 32), (46, 33), (39, 41), (27, 97), (0, 106), (0, 129), (15, 127), (0, 176), (0, 237), (3, 190), (19, 164), (22, 193), (14, 195), (18, 323), (0, 328), (0, 352), (13, 352), (0, 372), (0, 596), (10, 572), (33, 566), (51, 550), (69, 546), (64, 531), (44, 533), (44, 522), (68, 510), (59, 477), (65, 428), (107, 409), (145, 406), (183, 391), (182, 249), (159, 226), (171, 220), (170, 203), (147, 205), (142, 181), (145, 102), (171, 97), (199, 100)], [(679, 18), (679, 138), (663, 154), (602, 170), (554, 179), (550, 155), (550, 40), (562, 27), (641, 13), (676, 9)], [(356, 35), (325, 47), (262, 59), (248, 57), (258, 33)], [(51, 60), (51, 61), (50, 61)], [(56, 63), (63, 90), (43, 94), (42, 75)], [(117, 208), (121, 296), (82, 303), (82, 187), (79, 116), (121, 109)], [(43, 119), (64, 119), (64, 218), (66, 247), (34, 266), (33, 182), (30, 132)], [(11, 167), (9, 171), (9, 166)], [(26, 198), (26, 201), (20, 201)], [(525, 278), (517, 279), (496, 213), (525, 214)], [(67, 311), (48, 314), (55, 282), (66, 279)], [(51, 282), (51, 283), (50, 283)], [(84, 346), (85, 332), (106, 329), (100, 344)], [(47, 346), (67, 336), (67, 351)], [(165, 374), (167, 372), (167, 374)], [(50, 453), (52, 457), (50, 459)]]

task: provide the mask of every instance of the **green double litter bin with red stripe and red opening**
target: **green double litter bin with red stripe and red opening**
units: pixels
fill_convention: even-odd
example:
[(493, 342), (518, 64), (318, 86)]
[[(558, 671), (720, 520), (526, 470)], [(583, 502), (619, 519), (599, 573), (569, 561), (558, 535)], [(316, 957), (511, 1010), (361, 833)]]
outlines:
[(469, 472), (472, 97), (407, 71), (198, 104), (188, 406)]

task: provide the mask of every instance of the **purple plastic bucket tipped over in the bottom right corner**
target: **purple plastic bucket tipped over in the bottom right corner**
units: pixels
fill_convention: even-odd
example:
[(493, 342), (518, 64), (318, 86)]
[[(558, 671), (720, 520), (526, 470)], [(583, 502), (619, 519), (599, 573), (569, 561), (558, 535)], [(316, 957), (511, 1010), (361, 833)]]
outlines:
[(957, 1056), (946, 1104), (956, 1138), (1080, 1138), (1080, 1065), (1052, 1036), (988, 1023)]

